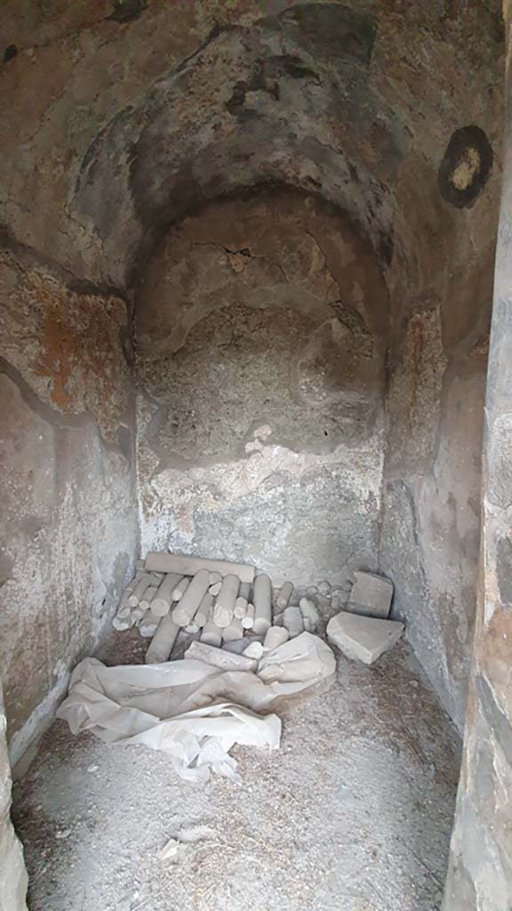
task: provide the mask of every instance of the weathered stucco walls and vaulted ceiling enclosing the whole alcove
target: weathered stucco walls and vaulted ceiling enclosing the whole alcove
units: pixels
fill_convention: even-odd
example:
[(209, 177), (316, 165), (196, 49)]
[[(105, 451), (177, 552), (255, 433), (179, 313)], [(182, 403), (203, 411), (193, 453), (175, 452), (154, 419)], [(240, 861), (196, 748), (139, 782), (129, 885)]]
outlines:
[[(15, 753), (93, 648), (137, 549), (124, 309), (136, 289), (144, 544), (170, 537), (278, 576), (336, 578), (356, 555), (376, 564), (460, 726), (504, 63), (500, 4), (464, 6), (20, 0), (3, 10), (0, 220), (14, 240), (0, 263), (1, 622)], [(279, 205), (249, 220), (270, 191)], [(314, 230), (292, 199), (310, 207)], [(503, 263), (491, 369), (506, 390), (505, 253)], [(487, 498), (497, 530), (485, 539), (492, 594), (479, 635), (499, 654), (512, 602), (512, 421), (508, 407), (487, 406), (499, 502)], [(484, 810), (473, 795), (467, 811), (483, 819), (507, 781), (508, 694), (507, 662), (491, 667), (490, 646), (478, 648), (490, 682), (472, 697), (465, 782), (473, 788), (482, 739), (492, 743), (497, 804)], [(454, 857), (471, 875), (452, 875), (454, 894), (466, 888), (459, 906), (481, 909), (497, 892), (457, 831)]]

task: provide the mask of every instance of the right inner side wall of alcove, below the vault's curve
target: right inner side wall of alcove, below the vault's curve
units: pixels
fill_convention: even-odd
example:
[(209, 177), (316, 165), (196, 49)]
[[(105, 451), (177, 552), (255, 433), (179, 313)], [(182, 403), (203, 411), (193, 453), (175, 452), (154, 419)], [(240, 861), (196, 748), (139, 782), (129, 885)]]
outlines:
[[(472, 656), (480, 534), (487, 313), (450, 350), (438, 307), (416, 312), (391, 376), (380, 566), (394, 614), (459, 730)], [(466, 319), (467, 298), (456, 301)]]

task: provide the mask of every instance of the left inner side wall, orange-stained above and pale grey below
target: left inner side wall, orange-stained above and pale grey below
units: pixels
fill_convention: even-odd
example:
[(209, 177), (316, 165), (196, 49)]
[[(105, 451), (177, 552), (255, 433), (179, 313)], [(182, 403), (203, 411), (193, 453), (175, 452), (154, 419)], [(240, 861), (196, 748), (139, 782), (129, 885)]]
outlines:
[(126, 302), (0, 251), (0, 667), (15, 762), (138, 547)]

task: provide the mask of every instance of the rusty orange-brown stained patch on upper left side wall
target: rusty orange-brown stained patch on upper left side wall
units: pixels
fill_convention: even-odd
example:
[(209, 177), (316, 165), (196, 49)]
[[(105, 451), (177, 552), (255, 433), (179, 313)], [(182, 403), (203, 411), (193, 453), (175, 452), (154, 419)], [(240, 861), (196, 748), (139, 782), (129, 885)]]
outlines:
[(1, 255), (0, 268), (0, 354), (23, 370), (42, 401), (64, 415), (94, 415), (114, 441), (130, 389), (126, 303), (71, 292), (45, 267), (11, 253)]

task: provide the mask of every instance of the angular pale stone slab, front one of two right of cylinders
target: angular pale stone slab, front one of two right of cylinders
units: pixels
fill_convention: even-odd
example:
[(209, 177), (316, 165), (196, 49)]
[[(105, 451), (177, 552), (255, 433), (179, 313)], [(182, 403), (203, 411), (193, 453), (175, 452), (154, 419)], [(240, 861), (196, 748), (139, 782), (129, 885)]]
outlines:
[(329, 641), (343, 651), (347, 658), (373, 664), (384, 651), (392, 649), (404, 633), (398, 620), (361, 617), (342, 610), (327, 624)]

